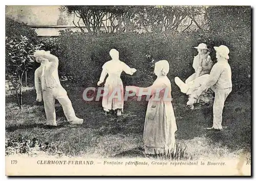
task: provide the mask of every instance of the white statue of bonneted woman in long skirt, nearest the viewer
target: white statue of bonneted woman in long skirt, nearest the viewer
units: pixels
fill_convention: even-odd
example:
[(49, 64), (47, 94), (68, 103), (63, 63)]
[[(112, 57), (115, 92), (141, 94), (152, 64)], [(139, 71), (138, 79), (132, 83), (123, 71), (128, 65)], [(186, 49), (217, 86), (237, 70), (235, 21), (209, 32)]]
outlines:
[(176, 119), (172, 105), (171, 84), (167, 77), (169, 63), (160, 60), (155, 63), (157, 79), (149, 87), (126, 86), (137, 96), (150, 95), (144, 124), (144, 149), (146, 155), (170, 153), (175, 149)]

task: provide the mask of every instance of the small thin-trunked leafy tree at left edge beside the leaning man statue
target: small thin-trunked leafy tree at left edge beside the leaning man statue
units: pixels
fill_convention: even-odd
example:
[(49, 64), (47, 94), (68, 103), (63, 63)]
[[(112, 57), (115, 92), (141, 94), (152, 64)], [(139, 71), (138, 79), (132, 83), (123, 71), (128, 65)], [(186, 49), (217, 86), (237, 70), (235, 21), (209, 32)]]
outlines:
[(17, 99), (19, 108), (23, 105), (23, 79), (27, 85), (27, 72), (32, 69), (33, 53), (40, 48), (29, 43), (26, 36), (11, 39), (6, 37), (6, 79), (12, 96)]

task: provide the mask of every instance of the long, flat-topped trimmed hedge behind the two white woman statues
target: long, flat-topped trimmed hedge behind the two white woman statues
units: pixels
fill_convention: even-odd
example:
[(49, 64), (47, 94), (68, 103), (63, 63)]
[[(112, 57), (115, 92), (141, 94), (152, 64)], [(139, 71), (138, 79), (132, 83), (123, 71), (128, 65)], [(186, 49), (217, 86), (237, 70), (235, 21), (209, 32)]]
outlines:
[(135, 33), (84, 36), (65, 31), (58, 38), (60, 47), (55, 55), (59, 57), (61, 75), (72, 76), (84, 85), (96, 85), (101, 67), (111, 59), (109, 51), (114, 48), (119, 51), (121, 61), (137, 69), (133, 76), (123, 73), (123, 83), (148, 86), (155, 79), (154, 63), (158, 60), (169, 61), (170, 79), (175, 76), (186, 78), (192, 74), (193, 57), (197, 55), (193, 47), (200, 40), (197, 33), (168, 37), (162, 34)]

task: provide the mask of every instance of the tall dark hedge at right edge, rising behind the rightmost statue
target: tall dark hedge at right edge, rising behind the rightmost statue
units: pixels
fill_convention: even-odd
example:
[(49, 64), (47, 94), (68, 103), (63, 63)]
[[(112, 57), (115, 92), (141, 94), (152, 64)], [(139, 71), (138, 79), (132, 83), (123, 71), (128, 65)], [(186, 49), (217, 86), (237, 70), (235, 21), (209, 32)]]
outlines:
[(225, 43), (230, 50), (234, 88), (251, 89), (251, 7), (211, 6), (206, 10), (211, 37), (205, 39), (217, 46)]

